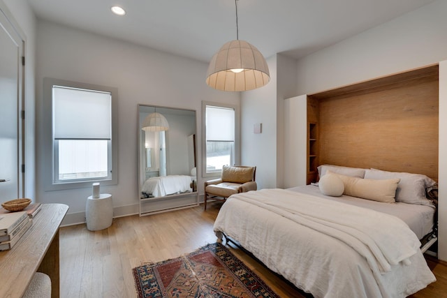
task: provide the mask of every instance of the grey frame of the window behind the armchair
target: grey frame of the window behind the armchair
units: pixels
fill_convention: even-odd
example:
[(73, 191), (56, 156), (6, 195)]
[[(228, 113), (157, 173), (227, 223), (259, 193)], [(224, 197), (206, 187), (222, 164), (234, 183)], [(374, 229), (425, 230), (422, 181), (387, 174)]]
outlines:
[(206, 110), (207, 106), (223, 107), (233, 109), (235, 111), (235, 156), (234, 164), (240, 164), (240, 107), (227, 103), (216, 103), (211, 101), (202, 101), (202, 176), (203, 177), (220, 177), (221, 171), (207, 172), (207, 130), (206, 130)]

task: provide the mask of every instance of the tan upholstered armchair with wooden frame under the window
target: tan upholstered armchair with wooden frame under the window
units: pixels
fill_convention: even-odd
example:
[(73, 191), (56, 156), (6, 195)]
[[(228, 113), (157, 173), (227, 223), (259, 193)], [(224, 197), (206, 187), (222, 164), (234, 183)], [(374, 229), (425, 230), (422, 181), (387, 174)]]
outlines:
[(226, 200), (235, 193), (256, 191), (256, 167), (224, 165), (219, 179), (205, 181), (205, 210), (207, 200)]

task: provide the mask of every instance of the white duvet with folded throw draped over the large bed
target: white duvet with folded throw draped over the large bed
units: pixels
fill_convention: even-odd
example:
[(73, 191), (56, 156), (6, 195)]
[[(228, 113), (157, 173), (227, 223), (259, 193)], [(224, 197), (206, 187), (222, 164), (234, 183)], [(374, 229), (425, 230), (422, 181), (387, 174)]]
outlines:
[(406, 297), (435, 281), (395, 216), (282, 189), (232, 195), (214, 223), (314, 297)]

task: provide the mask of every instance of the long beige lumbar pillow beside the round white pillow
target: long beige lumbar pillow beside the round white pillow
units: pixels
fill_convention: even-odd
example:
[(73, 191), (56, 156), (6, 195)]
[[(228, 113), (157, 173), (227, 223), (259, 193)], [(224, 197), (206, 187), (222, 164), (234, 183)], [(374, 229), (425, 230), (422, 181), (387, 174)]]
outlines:
[[(330, 171), (328, 172), (330, 173)], [(335, 174), (344, 183), (344, 195), (377, 202), (394, 203), (400, 179), (362, 179)]]

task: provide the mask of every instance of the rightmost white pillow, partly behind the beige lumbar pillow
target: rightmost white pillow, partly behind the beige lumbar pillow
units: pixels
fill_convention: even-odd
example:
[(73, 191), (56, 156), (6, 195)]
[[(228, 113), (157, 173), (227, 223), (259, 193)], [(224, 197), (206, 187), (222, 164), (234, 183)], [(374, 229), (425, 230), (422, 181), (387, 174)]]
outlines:
[(399, 178), (397, 185), (396, 202), (407, 204), (420, 204), (432, 206), (430, 200), (425, 197), (425, 189), (434, 186), (436, 181), (423, 174), (411, 174), (406, 172), (387, 172), (382, 170), (366, 170), (367, 179), (392, 179)]

